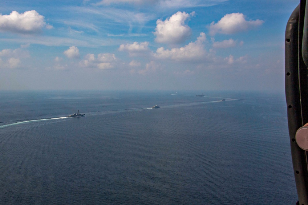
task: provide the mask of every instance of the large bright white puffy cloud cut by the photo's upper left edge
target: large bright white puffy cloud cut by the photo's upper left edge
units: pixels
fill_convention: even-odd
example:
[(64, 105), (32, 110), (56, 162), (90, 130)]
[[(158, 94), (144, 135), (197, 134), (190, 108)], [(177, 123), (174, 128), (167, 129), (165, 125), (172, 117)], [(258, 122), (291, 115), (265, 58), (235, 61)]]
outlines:
[(18, 13), (12, 11), (9, 15), (0, 14), (0, 31), (13, 33), (39, 33), (46, 25), (44, 16), (35, 10)]

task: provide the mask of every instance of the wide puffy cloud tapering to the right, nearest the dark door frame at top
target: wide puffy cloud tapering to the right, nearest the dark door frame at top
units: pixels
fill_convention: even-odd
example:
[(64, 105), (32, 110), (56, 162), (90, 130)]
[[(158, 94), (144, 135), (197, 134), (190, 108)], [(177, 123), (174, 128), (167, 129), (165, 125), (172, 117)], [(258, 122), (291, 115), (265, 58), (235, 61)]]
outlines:
[(209, 34), (234, 34), (245, 31), (264, 23), (262, 20), (246, 21), (245, 15), (241, 13), (226, 14), (217, 23), (212, 22), (209, 26)]

